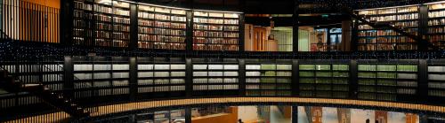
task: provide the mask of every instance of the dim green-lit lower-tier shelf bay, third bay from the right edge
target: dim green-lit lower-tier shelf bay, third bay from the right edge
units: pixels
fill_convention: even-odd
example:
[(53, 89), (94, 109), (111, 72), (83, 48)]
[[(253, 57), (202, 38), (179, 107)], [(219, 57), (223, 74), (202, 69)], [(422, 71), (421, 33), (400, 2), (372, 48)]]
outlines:
[(349, 95), (349, 65), (299, 65), (300, 96), (347, 98)]

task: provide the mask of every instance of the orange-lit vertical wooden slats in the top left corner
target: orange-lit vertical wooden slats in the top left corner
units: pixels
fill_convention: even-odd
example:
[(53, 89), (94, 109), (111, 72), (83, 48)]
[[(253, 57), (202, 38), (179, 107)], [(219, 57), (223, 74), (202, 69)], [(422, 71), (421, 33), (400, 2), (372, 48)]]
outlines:
[(4, 0), (1, 28), (20, 42), (60, 42), (60, 9), (25, 0)]

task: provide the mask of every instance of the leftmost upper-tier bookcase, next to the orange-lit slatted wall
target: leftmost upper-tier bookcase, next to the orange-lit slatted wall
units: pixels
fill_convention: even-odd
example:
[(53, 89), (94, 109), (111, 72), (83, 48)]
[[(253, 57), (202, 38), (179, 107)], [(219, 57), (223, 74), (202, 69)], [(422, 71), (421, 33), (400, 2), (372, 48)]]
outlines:
[(110, 0), (74, 1), (73, 44), (128, 47), (130, 4)]

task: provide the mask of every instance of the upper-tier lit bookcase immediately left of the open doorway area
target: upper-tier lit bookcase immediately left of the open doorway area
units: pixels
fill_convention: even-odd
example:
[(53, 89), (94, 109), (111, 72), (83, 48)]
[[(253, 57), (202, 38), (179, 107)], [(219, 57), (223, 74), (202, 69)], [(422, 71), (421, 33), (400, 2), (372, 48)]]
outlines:
[(193, 50), (239, 50), (239, 16), (193, 11)]

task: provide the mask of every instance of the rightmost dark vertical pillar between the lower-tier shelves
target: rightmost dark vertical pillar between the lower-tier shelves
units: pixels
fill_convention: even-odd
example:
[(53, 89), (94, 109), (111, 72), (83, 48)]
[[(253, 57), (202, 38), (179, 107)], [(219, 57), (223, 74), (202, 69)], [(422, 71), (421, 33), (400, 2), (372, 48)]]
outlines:
[[(428, 62), (419, 59), (417, 65), (417, 101), (425, 103), (428, 99)], [(432, 100), (430, 100), (432, 101)]]

